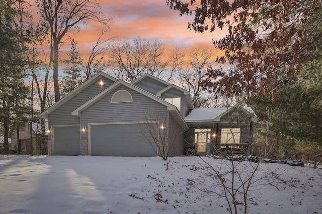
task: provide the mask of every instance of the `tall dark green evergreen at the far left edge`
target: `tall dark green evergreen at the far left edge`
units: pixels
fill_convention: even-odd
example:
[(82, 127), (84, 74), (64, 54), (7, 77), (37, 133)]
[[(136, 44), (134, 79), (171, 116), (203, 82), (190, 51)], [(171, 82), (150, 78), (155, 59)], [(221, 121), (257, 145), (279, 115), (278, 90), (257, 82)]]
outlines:
[(0, 124), (7, 151), (10, 125), (23, 115), (21, 101), (29, 93), (24, 84), (24, 68), (28, 64), (28, 34), (22, 23), (21, 4), (23, 3), (0, 0)]

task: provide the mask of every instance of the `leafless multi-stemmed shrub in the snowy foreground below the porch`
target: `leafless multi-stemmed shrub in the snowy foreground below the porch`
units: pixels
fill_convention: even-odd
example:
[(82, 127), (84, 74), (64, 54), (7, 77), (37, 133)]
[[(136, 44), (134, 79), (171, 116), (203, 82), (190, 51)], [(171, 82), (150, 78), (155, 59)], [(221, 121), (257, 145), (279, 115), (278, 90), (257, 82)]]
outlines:
[(224, 198), (228, 205), (227, 210), (230, 213), (239, 213), (244, 207), (244, 213), (247, 213), (249, 193), (263, 188), (269, 183), (261, 182), (263, 178), (270, 176), (273, 172), (267, 171), (263, 176), (258, 176), (261, 163), (248, 161), (235, 161), (231, 159), (218, 159), (216, 165), (209, 163), (205, 158), (200, 158), (200, 166), (203, 170), (202, 177), (206, 177), (207, 182), (194, 185), (208, 195), (214, 194)]

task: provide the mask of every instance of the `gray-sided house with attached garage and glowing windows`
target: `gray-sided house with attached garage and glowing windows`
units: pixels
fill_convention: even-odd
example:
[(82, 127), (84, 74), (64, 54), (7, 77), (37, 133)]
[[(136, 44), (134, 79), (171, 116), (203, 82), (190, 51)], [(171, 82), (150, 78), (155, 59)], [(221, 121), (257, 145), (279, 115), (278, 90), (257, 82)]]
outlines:
[[(148, 117), (159, 114), (166, 118)], [(206, 154), (223, 144), (231, 150), (236, 147), (231, 143), (252, 143), (257, 118), (250, 108), (194, 109), (188, 91), (149, 74), (127, 83), (103, 72), (39, 117), (48, 119), (49, 155), (103, 156), (156, 156), (140, 135), (147, 121), (174, 142), (170, 156), (184, 155), (187, 149)], [(178, 127), (185, 133), (174, 139)]]

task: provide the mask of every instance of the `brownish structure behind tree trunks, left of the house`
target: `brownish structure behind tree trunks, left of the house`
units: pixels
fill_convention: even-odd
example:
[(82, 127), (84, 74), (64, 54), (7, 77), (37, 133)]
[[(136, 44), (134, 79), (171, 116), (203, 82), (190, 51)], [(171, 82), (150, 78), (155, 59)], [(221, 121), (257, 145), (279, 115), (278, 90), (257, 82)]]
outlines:
[[(45, 128), (48, 129), (47, 122)], [(46, 133), (41, 134), (41, 124), (32, 123), (32, 137), (30, 133), (30, 123), (25, 123), (24, 127), (19, 128), (19, 141), (21, 143), (22, 154), (44, 155), (47, 154), (47, 138)], [(32, 139), (32, 146), (31, 146)], [(17, 129), (13, 129), (11, 132), (11, 145), (10, 149), (18, 152), (18, 139)], [(33, 150), (33, 152), (31, 151)]]

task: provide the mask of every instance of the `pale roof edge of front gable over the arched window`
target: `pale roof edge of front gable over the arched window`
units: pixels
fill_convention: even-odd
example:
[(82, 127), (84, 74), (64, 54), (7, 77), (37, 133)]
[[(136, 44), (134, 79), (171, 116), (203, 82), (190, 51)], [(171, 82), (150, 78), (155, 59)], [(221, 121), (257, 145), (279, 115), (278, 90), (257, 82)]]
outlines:
[(163, 100), (161, 98), (154, 96), (153, 94), (151, 94), (147, 91), (140, 89), (139, 87), (136, 87), (135, 85), (124, 82), (123, 80), (118, 80), (117, 82), (113, 83), (110, 87), (106, 88), (104, 91), (102, 91), (101, 93), (99, 93), (98, 95), (96, 95), (95, 97), (93, 97), (92, 99), (87, 101), (86, 103), (84, 103), (82, 106), (79, 106), (77, 109), (72, 111), (71, 114), (74, 116), (80, 116), (82, 111), (89, 108), (91, 105), (93, 105), (94, 103), (96, 103), (97, 101), (99, 101), (100, 99), (102, 99), (103, 97), (108, 95), (109, 93), (111, 93), (114, 89), (118, 88), (120, 85), (128, 87), (128, 88), (132, 89), (133, 91), (136, 91), (136, 92), (138, 92), (138, 93), (140, 93), (140, 94), (142, 94), (142, 95), (144, 95), (144, 96), (146, 96), (146, 97), (148, 97), (160, 104), (167, 106), (169, 111), (173, 111), (173, 112), (177, 113), (176, 114), (176, 115), (178, 115), (177, 119), (182, 121), (181, 124), (183, 124), (186, 128), (188, 128), (187, 124), (185, 123), (183, 117), (181, 116), (181, 114), (178, 111), (176, 106), (166, 102), (165, 100)]

